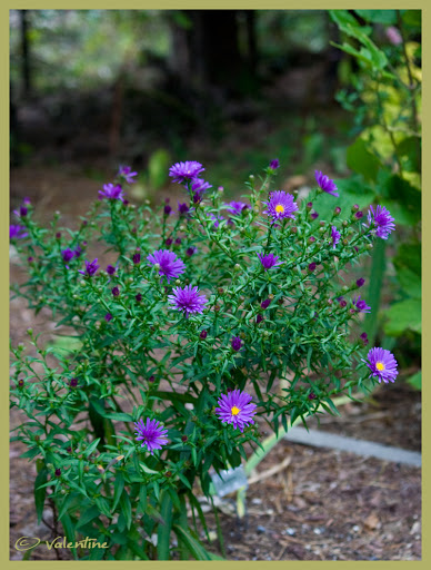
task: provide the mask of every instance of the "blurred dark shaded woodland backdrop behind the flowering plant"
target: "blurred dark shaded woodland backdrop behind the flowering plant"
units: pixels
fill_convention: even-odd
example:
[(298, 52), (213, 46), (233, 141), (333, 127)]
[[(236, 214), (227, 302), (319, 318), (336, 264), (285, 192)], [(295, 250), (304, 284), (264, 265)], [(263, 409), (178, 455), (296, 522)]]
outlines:
[(345, 174), (337, 38), (324, 11), (12, 10), (12, 166), (131, 163), (150, 194), (190, 157), (228, 191), (273, 156)]

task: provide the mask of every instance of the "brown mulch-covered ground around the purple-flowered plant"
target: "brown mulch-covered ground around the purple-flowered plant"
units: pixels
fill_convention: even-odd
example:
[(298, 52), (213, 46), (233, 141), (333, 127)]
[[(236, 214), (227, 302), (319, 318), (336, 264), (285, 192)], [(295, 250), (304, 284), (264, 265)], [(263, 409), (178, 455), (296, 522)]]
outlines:
[[(21, 176), (21, 177), (20, 177)], [(72, 206), (76, 185), (59, 173), (54, 184), (49, 171), (40, 173), (41, 180), (30, 180), (22, 173), (14, 174), (14, 196), (37, 202), (46, 196), (40, 188), (56, 188), (44, 204), (50, 212), (61, 209), (66, 218), (83, 214), (89, 204), (87, 190)], [(52, 179), (51, 179), (52, 181)], [(29, 191), (31, 189), (33, 193)], [(94, 195), (99, 184), (89, 181)], [(70, 190), (70, 191), (68, 191)], [(42, 199), (42, 198), (40, 198)], [(12, 204), (16, 206), (16, 202)], [(11, 265), (11, 281), (22, 278), (17, 265)], [(16, 344), (24, 340), (26, 330), (47, 330), (47, 315), (34, 320), (22, 299), (11, 302), (11, 338)], [(405, 383), (382, 386), (360, 404), (349, 403), (341, 409), (341, 419), (322, 416), (321, 430), (380, 442), (403, 449), (421, 448), (421, 394)], [(11, 411), (11, 429), (19, 424), (18, 410)], [(310, 428), (317, 428), (315, 420)], [(22, 444), (10, 445), (10, 557), (22, 559), (14, 544), (20, 537), (52, 540), (62, 535), (50, 530), (51, 513), (47, 508), (47, 524), (37, 525), (33, 503), (36, 469), (20, 458)], [(345, 452), (312, 449), (281, 441), (258, 466), (258, 474), (291, 456), (289, 465), (271, 478), (250, 485), (247, 493), (247, 515), (238, 520), (233, 514), (220, 512), (225, 554), (230, 560), (420, 560), (421, 559), (421, 470), (413, 466), (361, 458)], [(224, 498), (227, 505), (235, 495)], [(216, 521), (208, 514), (211, 538)], [(51, 538), (52, 537), (52, 538)], [(221, 553), (217, 540), (208, 543)], [(58, 551), (40, 544), (31, 560), (54, 560)], [(70, 552), (61, 550), (63, 558)]]

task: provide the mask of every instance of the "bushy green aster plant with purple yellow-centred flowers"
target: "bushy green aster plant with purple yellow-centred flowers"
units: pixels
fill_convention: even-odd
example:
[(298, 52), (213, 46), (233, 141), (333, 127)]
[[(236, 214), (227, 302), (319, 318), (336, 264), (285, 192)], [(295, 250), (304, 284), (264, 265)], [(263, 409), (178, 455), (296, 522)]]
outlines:
[[(14, 438), (37, 462), (39, 520), (50, 504), (68, 540), (109, 544), (77, 558), (211, 559), (196, 520), (208, 530), (197, 493), (211, 497), (212, 471), (245, 461), (262, 426), (307, 424), (335, 395), (397, 379), (389, 351), (364, 352), (373, 307), (347, 276), (393, 218), (343, 213), (321, 173), (299, 200), (274, 187), (279, 168), (229, 203), (200, 163), (177, 163), (173, 209), (124, 200), (137, 173), (122, 166), (76, 230), (57, 213), (40, 227), (37, 206), (10, 226), (29, 275), (13, 294), (70, 338), (47, 346), (29, 330), (11, 347)], [(318, 194), (334, 202), (319, 223)]]

